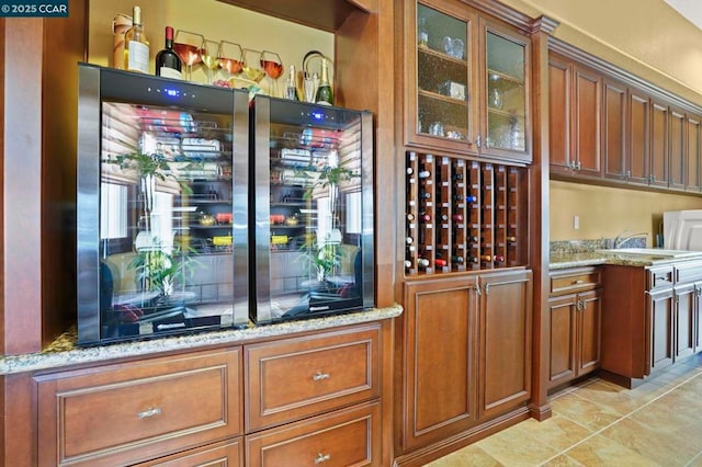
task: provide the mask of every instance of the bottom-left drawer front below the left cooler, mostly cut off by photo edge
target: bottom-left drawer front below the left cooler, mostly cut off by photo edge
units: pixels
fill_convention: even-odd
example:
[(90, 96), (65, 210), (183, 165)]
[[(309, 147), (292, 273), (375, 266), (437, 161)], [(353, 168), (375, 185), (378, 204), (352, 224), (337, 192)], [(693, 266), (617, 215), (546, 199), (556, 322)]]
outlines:
[(220, 466), (237, 467), (244, 465), (244, 441), (241, 437), (225, 443), (215, 443), (172, 456), (160, 457), (156, 460), (139, 464), (139, 467), (191, 467)]

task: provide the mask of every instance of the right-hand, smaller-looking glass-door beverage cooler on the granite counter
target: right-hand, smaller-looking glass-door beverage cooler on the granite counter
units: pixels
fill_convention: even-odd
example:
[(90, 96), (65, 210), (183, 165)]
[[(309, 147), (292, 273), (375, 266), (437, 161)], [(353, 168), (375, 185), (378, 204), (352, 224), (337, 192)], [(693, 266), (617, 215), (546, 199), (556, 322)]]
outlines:
[(251, 122), (251, 319), (373, 307), (372, 114), (258, 95)]

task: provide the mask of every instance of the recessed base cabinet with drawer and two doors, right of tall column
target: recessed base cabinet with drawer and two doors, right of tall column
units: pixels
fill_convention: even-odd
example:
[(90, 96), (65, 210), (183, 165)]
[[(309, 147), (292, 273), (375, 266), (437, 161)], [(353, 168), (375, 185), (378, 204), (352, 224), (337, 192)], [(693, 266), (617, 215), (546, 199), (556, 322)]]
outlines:
[(598, 267), (552, 272), (548, 387), (568, 383), (600, 366), (602, 292)]

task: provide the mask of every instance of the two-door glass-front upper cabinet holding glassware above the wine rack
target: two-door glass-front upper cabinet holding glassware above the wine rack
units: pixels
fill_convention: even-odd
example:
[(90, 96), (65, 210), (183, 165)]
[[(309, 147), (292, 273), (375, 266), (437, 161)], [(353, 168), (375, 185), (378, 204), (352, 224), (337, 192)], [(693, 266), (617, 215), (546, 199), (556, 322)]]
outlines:
[(456, 1), (405, 13), (405, 143), (530, 162), (529, 36)]

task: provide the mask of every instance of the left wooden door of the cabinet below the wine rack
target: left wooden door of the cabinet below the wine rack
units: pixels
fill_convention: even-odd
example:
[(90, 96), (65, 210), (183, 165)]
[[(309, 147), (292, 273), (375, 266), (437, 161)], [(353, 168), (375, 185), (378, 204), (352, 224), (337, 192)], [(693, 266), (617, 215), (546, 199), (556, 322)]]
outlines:
[(403, 448), (445, 440), (476, 423), (477, 285), (407, 282), (401, 364)]

